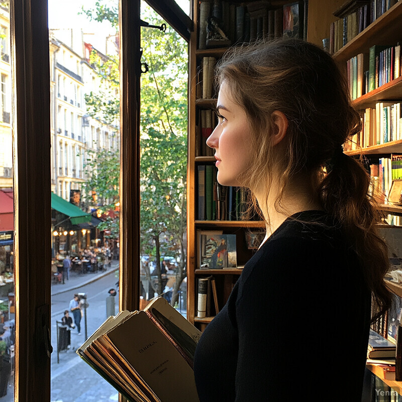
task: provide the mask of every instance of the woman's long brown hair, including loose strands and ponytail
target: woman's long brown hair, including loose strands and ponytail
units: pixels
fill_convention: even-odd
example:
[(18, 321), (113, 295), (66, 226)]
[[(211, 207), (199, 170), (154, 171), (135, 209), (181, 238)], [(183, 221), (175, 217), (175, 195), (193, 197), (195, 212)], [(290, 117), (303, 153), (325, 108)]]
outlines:
[(288, 120), (286, 157), (275, 208), (283, 209), (281, 197), (292, 177), (307, 174), (324, 210), (342, 225), (360, 258), (379, 307), (374, 322), (390, 305), (383, 280), (389, 263), (376, 230), (380, 216), (368, 196), (370, 176), (361, 161), (342, 149), (361, 129), (345, 77), (329, 54), (290, 39), (233, 48), (217, 65), (217, 86), (223, 82), (231, 99), (244, 108), (252, 133), (255, 162), (239, 182), (253, 188), (266, 180), (269, 191), (275, 158), (272, 112), (282, 112)]

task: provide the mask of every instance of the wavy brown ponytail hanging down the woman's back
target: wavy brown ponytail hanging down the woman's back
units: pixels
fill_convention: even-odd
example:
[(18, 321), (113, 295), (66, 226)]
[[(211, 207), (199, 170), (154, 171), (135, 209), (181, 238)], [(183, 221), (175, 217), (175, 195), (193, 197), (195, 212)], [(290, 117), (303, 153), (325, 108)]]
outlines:
[(377, 233), (380, 214), (370, 199), (370, 176), (361, 161), (340, 154), (327, 166), (327, 174), (319, 188), (325, 211), (331, 213), (344, 228), (349, 244), (364, 268), (367, 286), (378, 306), (372, 323), (383, 315), (391, 303), (391, 295), (383, 277), (388, 270), (388, 253)]

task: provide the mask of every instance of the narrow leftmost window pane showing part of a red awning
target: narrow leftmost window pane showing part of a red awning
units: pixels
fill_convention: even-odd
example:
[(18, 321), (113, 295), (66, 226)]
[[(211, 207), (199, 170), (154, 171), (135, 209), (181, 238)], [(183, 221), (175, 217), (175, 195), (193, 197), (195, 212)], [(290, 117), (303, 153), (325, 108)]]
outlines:
[(0, 401), (14, 400), (14, 202), (10, 11), (0, 4)]

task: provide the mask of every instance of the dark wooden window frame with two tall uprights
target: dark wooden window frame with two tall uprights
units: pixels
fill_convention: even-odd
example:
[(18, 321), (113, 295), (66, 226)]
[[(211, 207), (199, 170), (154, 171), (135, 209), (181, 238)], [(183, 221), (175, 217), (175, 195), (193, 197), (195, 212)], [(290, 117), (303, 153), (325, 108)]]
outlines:
[[(188, 40), (171, 0), (148, 2)], [(119, 0), (121, 40), (120, 309), (139, 307), (140, 0)], [(174, 10), (174, 13), (172, 12)], [(175, 14), (175, 16), (174, 16)], [(178, 16), (178, 17), (177, 17)], [(174, 17), (174, 18), (173, 18)], [(51, 138), (47, 0), (11, 0), (16, 401), (50, 401)], [(44, 62), (45, 61), (45, 62)]]

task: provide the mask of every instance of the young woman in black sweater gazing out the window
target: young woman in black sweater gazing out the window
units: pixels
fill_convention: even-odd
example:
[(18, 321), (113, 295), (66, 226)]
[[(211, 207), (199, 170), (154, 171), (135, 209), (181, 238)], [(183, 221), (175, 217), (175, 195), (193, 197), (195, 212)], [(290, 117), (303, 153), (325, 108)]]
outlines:
[(331, 56), (299, 40), (233, 49), (217, 67), (218, 181), (245, 186), (266, 237), (195, 354), (201, 402), (360, 401), (371, 296), (389, 294), (360, 130)]

